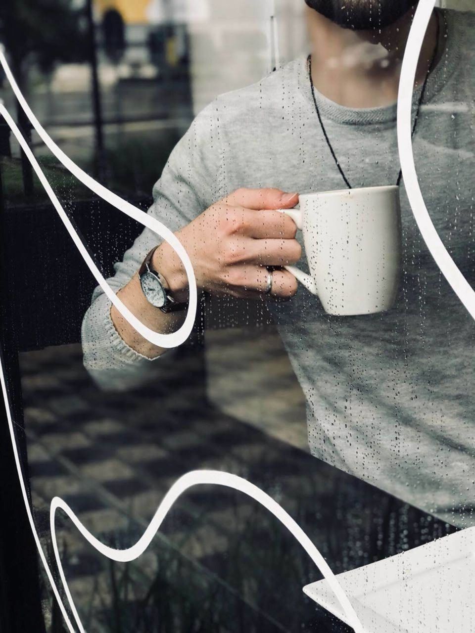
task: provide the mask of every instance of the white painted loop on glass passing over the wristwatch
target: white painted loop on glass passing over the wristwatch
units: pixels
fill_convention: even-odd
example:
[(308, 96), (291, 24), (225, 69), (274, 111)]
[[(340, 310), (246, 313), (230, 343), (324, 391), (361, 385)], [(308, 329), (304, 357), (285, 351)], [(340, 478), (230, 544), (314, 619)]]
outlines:
[(32, 164), (35, 170), (35, 173), (37, 174), (39, 180), (41, 181), (41, 184), (43, 185), (44, 189), (46, 190), (49, 196), (49, 199), (51, 199), (51, 202), (53, 203), (54, 208), (56, 209), (58, 215), (60, 216), (61, 221), (63, 222), (66, 229), (68, 230), (68, 233), (70, 234), (71, 239), (73, 240), (73, 242), (79, 249), (79, 252), (82, 258), (84, 259), (85, 263), (87, 263), (87, 266), (89, 266), (89, 269), (91, 270), (98, 284), (101, 286), (101, 288), (103, 289), (105, 294), (108, 296), (110, 301), (114, 304), (114, 306), (117, 308), (120, 314), (124, 316), (124, 318), (130, 323), (130, 325), (132, 325), (132, 327), (134, 327), (134, 329), (136, 329), (137, 332), (139, 332), (139, 334), (141, 334), (141, 336), (144, 337), (144, 339), (146, 339), (147, 341), (161, 348), (178, 347), (179, 345), (181, 345), (187, 340), (187, 338), (191, 334), (191, 330), (193, 330), (194, 320), (196, 318), (196, 308), (198, 305), (198, 291), (196, 288), (196, 279), (194, 277), (193, 266), (191, 265), (191, 261), (185, 249), (183, 248), (181, 242), (176, 237), (176, 235), (172, 233), (170, 229), (165, 227), (165, 225), (163, 225), (161, 222), (158, 222), (158, 220), (148, 215), (148, 213), (144, 213), (144, 211), (141, 211), (140, 209), (135, 207), (133, 204), (128, 203), (127, 201), (122, 199), (120, 196), (117, 196), (117, 194), (113, 193), (112, 191), (109, 191), (108, 189), (106, 189), (106, 187), (104, 187), (103, 185), (99, 184), (99, 182), (91, 178), (91, 176), (89, 176), (82, 169), (80, 169), (79, 166), (73, 163), (73, 161), (68, 156), (66, 156), (66, 154), (60, 149), (60, 147), (56, 145), (53, 139), (49, 137), (46, 130), (44, 130), (44, 128), (41, 126), (41, 123), (39, 123), (39, 121), (35, 117), (32, 110), (30, 110), (30, 107), (28, 106), (28, 103), (25, 100), (25, 97), (23, 97), (22, 92), (20, 92), (20, 89), (18, 88), (18, 85), (16, 85), (15, 77), (13, 77), (13, 74), (11, 73), (11, 70), (9, 69), (8, 63), (4, 55), (4, 49), (1, 44), (0, 44), (0, 65), (3, 67), (3, 70), (6, 74), (9, 84), (11, 85), (11, 88), (13, 89), (13, 92), (15, 93), (16, 98), (18, 99), (18, 102), (22, 106), (23, 110), (25, 111), (25, 114), (28, 116), (33, 127), (35, 128), (35, 130), (41, 137), (41, 140), (47, 146), (49, 151), (51, 151), (51, 153), (53, 153), (54, 156), (56, 156), (56, 158), (58, 158), (58, 160), (61, 163), (63, 163), (66, 169), (69, 170), (73, 174), (73, 176), (75, 176), (75, 178), (80, 180), (82, 184), (88, 187), (88, 189), (91, 189), (91, 191), (93, 191), (96, 195), (101, 197), (103, 200), (105, 200), (112, 206), (115, 206), (116, 209), (118, 209), (119, 211), (122, 211), (122, 213), (125, 213), (126, 215), (130, 216), (130, 218), (133, 218), (134, 220), (139, 222), (141, 225), (147, 227), (148, 229), (156, 233), (159, 237), (162, 237), (163, 239), (165, 239), (165, 241), (167, 241), (168, 244), (170, 244), (170, 246), (174, 248), (175, 252), (181, 259), (184, 265), (184, 268), (186, 270), (186, 274), (188, 277), (188, 285), (189, 285), (189, 306), (188, 306), (186, 319), (183, 325), (181, 326), (181, 328), (177, 330), (176, 332), (172, 332), (171, 334), (160, 334), (160, 332), (155, 332), (154, 330), (151, 330), (149, 327), (144, 325), (144, 323), (142, 323), (141, 320), (139, 320), (136, 316), (134, 316), (132, 312), (129, 310), (129, 308), (127, 308), (127, 306), (125, 306), (125, 304), (122, 303), (122, 301), (118, 298), (118, 296), (115, 294), (115, 292), (110, 287), (110, 285), (106, 282), (102, 273), (99, 271), (99, 268), (94, 263), (94, 260), (92, 260), (91, 256), (87, 252), (87, 249), (82, 243), (79, 235), (76, 233), (72, 223), (68, 219), (68, 216), (66, 215), (65, 211), (61, 207), (61, 204), (59, 203), (58, 198), (56, 197), (56, 194), (54, 194), (53, 189), (51, 189), (51, 186), (47, 182), (47, 179), (42, 173), (42, 170), (40, 166), (38, 165), (37, 161), (35, 160), (34, 155), (32, 154), (30, 148), (28, 147), (27, 142), (25, 141), (25, 139), (23, 139), (22, 134), (20, 133), (20, 130), (18, 130), (18, 127), (16, 127), (15, 122), (13, 121), (8, 111), (6, 110), (5, 106), (0, 100), (1, 114), (5, 117), (6, 122), (8, 123), (9, 127), (11, 127), (11, 130), (13, 134), (15, 134), (15, 137), (17, 141), (20, 143), (20, 146), (22, 146), (23, 151), (25, 151), (25, 154), (27, 154), (28, 160)]

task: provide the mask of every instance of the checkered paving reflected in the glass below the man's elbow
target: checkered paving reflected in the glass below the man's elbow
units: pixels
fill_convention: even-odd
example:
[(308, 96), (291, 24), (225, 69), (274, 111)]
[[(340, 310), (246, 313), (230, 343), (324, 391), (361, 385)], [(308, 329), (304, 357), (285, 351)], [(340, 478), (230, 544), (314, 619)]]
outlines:
[[(226, 349), (236, 335), (241, 344)], [(80, 346), (21, 354), (34, 515), (47, 551), (53, 496), (65, 499), (103, 542), (126, 548), (174, 481), (195, 468), (251, 480), (313, 530), (318, 542), (324, 514), (317, 514), (315, 498), (332, 494), (335, 484), (312, 470), (300, 387), (279, 339), (267, 330), (253, 337), (215, 332), (207, 354), (207, 384), (203, 358), (189, 354), (179, 371), (164, 362), (163, 380), (120, 394), (92, 384)], [(215, 360), (220, 365), (210, 372)], [(210, 401), (216, 391), (220, 399)], [(301, 586), (316, 578), (315, 570), (256, 506), (233, 491), (193, 489), (170, 511), (151, 549), (126, 566), (103, 560), (58, 515), (65, 573), (86, 630), (161, 632), (147, 614), (163, 620), (167, 601), (181, 614), (173, 617), (198, 613), (207, 624), (196, 630), (210, 633), (305, 631), (299, 613), (305, 608), (308, 630), (314, 630), (314, 605), (305, 603)], [(282, 570), (286, 604), (275, 591)], [(206, 620), (208, 604), (220, 620), (215, 628)], [(125, 620), (132, 614), (123, 629), (112, 617), (118, 611)], [(185, 620), (176, 630), (195, 630)]]

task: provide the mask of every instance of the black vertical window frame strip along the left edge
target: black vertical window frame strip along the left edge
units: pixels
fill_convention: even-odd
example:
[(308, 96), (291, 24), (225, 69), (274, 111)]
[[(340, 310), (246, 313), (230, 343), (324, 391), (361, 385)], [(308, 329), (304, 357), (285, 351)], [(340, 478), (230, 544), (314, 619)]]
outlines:
[[(18, 218), (15, 222), (18, 222)], [(23, 430), (22, 387), (18, 364), (18, 342), (13, 318), (14, 275), (8, 251), (8, 223), (3, 204), (0, 173), (0, 357), (8, 389), (9, 406), (16, 427), (16, 442), (27, 477), (26, 440)], [(16, 244), (21, 253), (21, 245)], [(0, 630), (2, 633), (45, 633), (41, 611), (37, 551), (23, 503), (9, 435), (8, 419), (0, 396)], [(28, 482), (27, 482), (28, 486)], [(29, 486), (28, 486), (29, 493)]]

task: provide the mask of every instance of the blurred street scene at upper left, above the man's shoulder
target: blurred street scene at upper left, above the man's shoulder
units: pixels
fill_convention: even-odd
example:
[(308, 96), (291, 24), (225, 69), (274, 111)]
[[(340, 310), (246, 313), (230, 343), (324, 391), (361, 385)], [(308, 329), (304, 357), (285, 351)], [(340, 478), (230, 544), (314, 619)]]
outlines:
[[(101, 182), (150, 195), (195, 113), (305, 49), (301, 9), (286, 1), (276, 21), (270, 0), (18, 0), (0, 8), (0, 39), (61, 149)], [(0, 96), (15, 111), (5, 82)], [(35, 133), (32, 147), (51, 162)]]

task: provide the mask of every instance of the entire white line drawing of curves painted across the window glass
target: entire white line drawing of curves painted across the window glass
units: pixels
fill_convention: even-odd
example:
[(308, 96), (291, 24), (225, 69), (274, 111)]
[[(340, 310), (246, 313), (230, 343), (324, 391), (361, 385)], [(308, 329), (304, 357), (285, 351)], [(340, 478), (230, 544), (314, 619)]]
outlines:
[[(415, 66), (417, 65), (417, 60), (419, 58), (419, 51), (421, 50), (422, 41), (424, 39), (424, 34), (426, 32), (426, 27), (429, 23), (429, 18), (431, 16), (432, 10), (434, 8), (435, 0), (421, 0), (419, 7), (415, 13), (414, 23), (412, 25), (409, 39), (407, 42), (407, 47), (405, 51), (405, 56), (403, 60), (402, 66), (402, 74), (400, 79), (400, 89), (398, 96), (398, 144), (399, 144), (399, 152), (400, 152), (400, 161), (403, 170), (403, 176), (405, 180), (405, 185), (410, 201), (410, 205), (412, 211), (415, 216), (415, 220), (421, 230), (422, 237), (424, 237), (424, 241), (428, 245), (429, 250), (433, 254), (434, 260), (440, 267), (441, 272), (445, 275), (446, 279), (452, 286), (453, 290), (456, 292), (460, 301), (466, 306), (467, 310), (471, 314), (472, 318), (475, 318), (475, 292), (472, 290), (471, 286), (468, 284), (462, 273), (460, 273), (459, 269), (453, 262), (452, 258), (443, 246), (443, 243), (440, 240), (436, 230), (434, 229), (433, 223), (431, 222), (429, 213), (424, 204), (424, 200), (422, 198), (421, 191), (419, 189), (419, 185), (417, 183), (417, 174), (415, 172), (414, 165), (414, 154), (412, 153), (412, 142), (411, 142), (411, 111), (412, 111), (412, 86), (414, 85), (415, 78)], [(122, 200), (116, 194), (109, 191), (103, 185), (100, 185), (96, 180), (92, 179), (87, 173), (80, 170), (80, 168), (73, 163), (66, 154), (64, 154), (61, 149), (56, 146), (53, 140), (47, 135), (44, 128), (42, 128), (41, 124), (35, 118), (34, 114), (30, 110), (27, 102), (25, 101), (22, 93), (18, 89), (18, 85), (16, 85), (15, 78), (11, 74), (8, 64), (6, 62), (6, 58), (4, 56), (4, 48), (0, 45), (0, 63), (4, 68), (4, 72), (6, 73), (6, 77), (8, 78), (9, 84), (11, 85), (13, 92), (20, 102), (23, 110), (27, 114), (30, 122), (34, 126), (35, 130), (41, 137), (42, 141), (46, 144), (46, 146), (50, 149), (50, 151), (58, 158), (58, 160), (63, 163), (63, 165), (70, 170), (70, 172), (75, 175), (85, 186), (89, 187), (91, 191), (96, 193), (98, 196), (105, 199), (108, 203), (115, 206), (118, 210), (123, 213), (129, 215), (130, 217), (137, 220), (141, 224), (145, 225), (149, 229), (156, 232), (156, 234), (166, 239), (172, 248), (175, 249), (177, 254), (180, 256), (188, 275), (189, 280), (189, 288), (190, 288), (190, 304), (189, 310), (186, 317), (186, 322), (182, 326), (178, 332), (174, 334), (162, 335), (157, 332), (153, 332), (153, 330), (148, 329), (143, 325), (130, 311), (124, 306), (122, 301), (115, 296), (115, 293), (110, 289), (108, 284), (106, 284), (105, 279), (99, 272), (97, 266), (92, 261), (89, 253), (87, 253), (87, 249), (84, 248), (84, 245), (80, 241), (79, 237), (75, 233), (72, 225), (70, 224), (64, 210), (61, 208), (61, 205), (56, 198), (54, 191), (51, 189), (51, 186), (47, 182), (46, 177), (41, 171), (41, 168), (35, 161), (35, 158), (29, 147), (20, 134), (20, 130), (15, 125), (15, 122), (9, 116), (8, 111), (4, 107), (3, 103), (0, 102), (0, 113), (4, 116), (6, 122), (11, 127), (13, 133), (16, 136), (16, 139), (22, 146), (25, 154), (28, 157), (28, 160), (32, 163), (34, 167), (35, 173), (39, 177), (42, 185), (46, 189), (48, 196), (51, 199), (51, 202), (54, 205), (56, 211), (58, 211), (58, 215), (60, 215), (61, 220), (65, 223), (66, 229), (70, 233), (73, 241), (75, 242), (77, 248), (79, 249), (82, 257), (85, 262), (89, 266), (92, 274), (98, 281), (98, 283), (103, 288), (104, 292), (110, 298), (110, 300), (115, 304), (117, 310), (120, 311), (122, 316), (129, 321), (129, 323), (134, 327), (137, 332), (143, 335), (149, 342), (156, 344), (158, 346), (162, 346), (163, 348), (175, 347), (186, 341), (189, 336), (191, 329), (193, 329), (194, 317), (196, 315), (196, 305), (197, 305), (197, 291), (196, 291), (196, 281), (194, 279), (193, 266), (191, 265), (191, 261), (189, 260), (186, 251), (182, 248), (180, 242), (175, 237), (175, 235), (164, 227), (160, 222), (155, 220), (155, 218), (151, 218), (150, 216), (143, 213), (143, 211), (138, 210), (133, 205), (127, 203)], [(407, 76), (406, 76), (407, 75)], [(408, 82), (408, 79), (410, 80)], [(39, 556), (41, 557), (41, 561), (44, 565), (47, 577), (49, 582), (51, 583), (51, 587), (54, 592), (54, 596), (56, 597), (58, 604), (60, 606), (61, 613), (65, 618), (66, 625), (70, 630), (70, 633), (75, 633), (72, 622), (68, 617), (68, 613), (66, 613), (65, 605), (61, 599), (60, 593), (58, 591), (58, 587), (53, 579), (53, 575), (46, 561), (46, 556), (41, 548), (41, 543), (39, 541), (39, 537), (37, 531), (35, 529), (32, 512), (30, 510), (30, 506), (28, 504), (28, 497), (25, 488), (25, 483), (22, 477), (22, 471), (20, 467), (20, 458), (18, 456), (18, 449), (16, 447), (15, 441), (15, 433), (13, 430), (13, 420), (11, 417), (11, 411), (9, 409), (8, 402), (8, 394), (6, 391), (6, 383), (4, 379), (4, 371), (3, 371), (3, 363), (0, 360), (0, 382), (3, 392), (4, 406), (6, 409), (6, 415), (8, 418), (9, 432), (13, 447), (13, 453), (15, 456), (15, 463), (18, 472), (18, 477), (20, 479), (20, 486), (23, 494), (23, 501), (25, 503), (25, 508), (27, 510), (28, 520), (30, 522), (30, 527), (32, 529), (34, 539), (37, 545), (37, 549), (39, 551)], [(261, 503), (267, 510), (269, 510), (276, 518), (278, 518), (283, 525), (285, 525), (291, 534), (300, 542), (301, 546), (307, 551), (308, 555), (315, 562), (315, 565), (320, 568), (320, 571), (323, 573), (324, 577), (328, 580), (331, 585), (334, 593), (338, 597), (341, 605), (345, 610), (346, 617), (348, 618), (348, 622), (352, 625), (355, 633), (364, 633), (362, 625), (360, 624), (357, 614), (355, 613), (353, 606), (351, 605), (348, 597), (346, 596), (343, 589), (339, 585), (338, 580), (334, 577), (333, 572), (328, 567), (326, 561), (322, 558), (317, 548), (315, 548), (314, 544), (308, 536), (301, 530), (300, 526), (286, 513), (286, 511), (277, 504), (274, 499), (270, 498), (265, 492), (263, 492), (254, 484), (236, 477), (236, 475), (231, 475), (230, 473), (224, 472), (214, 472), (214, 471), (195, 471), (187, 473), (183, 475), (177, 482), (175, 482), (174, 486), (170, 488), (167, 495), (163, 499), (162, 503), (158, 507), (155, 517), (149, 524), (148, 528), (144, 532), (143, 536), (137, 543), (129, 549), (126, 550), (115, 550), (108, 548), (104, 544), (102, 544), (98, 539), (96, 539), (90, 532), (88, 532), (84, 525), (80, 523), (79, 519), (75, 516), (71, 508), (60, 498), (55, 497), (51, 502), (50, 506), (50, 529), (51, 536), (53, 539), (53, 548), (54, 555), (56, 558), (56, 562), (58, 564), (58, 568), (60, 570), (61, 580), (64, 584), (66, 597), (68, 598), (68, 603), (70, 608), (72, 609), (76, 624), (79, 627), (81, 633), (84, 633), (84, 628), (80, 623), (79, 615), (77, 614), (77, 610), (75, 609), (74, 603), (72, 601), (72, 596), (68, 589), (68, 584), (65, 579), (65, 575), (63, 573), (63, 568), (61, 566), (61, 561), (58, 552), (58, 546), (55, 538), (55, 529), (54, 529), (54, 517), (56, 515), (56, 510), (61, 508), (61, 510), (65, 511), (68, 517), (75, 524), (77, 529), (81, 532), (82, 536), (84, 536), (87, 541), (100, 553), (108, 556), (108, 558), (112, 558), (117, 561), (127, 561), (134, 560), (137, 556), (141, 555), (143, 551), (148, 547), (151, 539), (156, 534), (156, 530), (160, 527), (160, 523), (162, 523), (163, 518), (167, 515), (168, 510), (172, 507), (174, 501), (182, 494), (182, 492), (186, 491), (191, 486), (198, 484), (217, 484), (220, 486), (227, 486), (238, 491), (244, 492), (244, 494), (248, 494), (253, 499)], [(155, 522), (155, 523), (154, 523)]]

